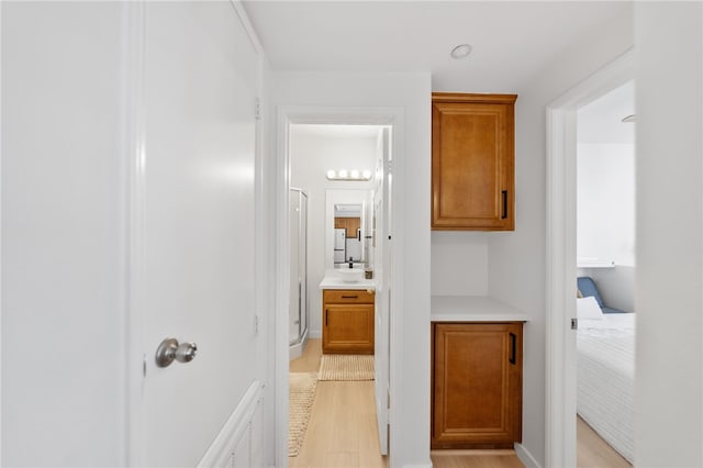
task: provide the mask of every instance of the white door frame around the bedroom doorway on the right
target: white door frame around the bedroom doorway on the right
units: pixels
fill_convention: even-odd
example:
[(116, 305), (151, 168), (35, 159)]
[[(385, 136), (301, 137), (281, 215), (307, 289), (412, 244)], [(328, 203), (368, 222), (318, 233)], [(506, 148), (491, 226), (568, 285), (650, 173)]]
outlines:
[(547, 467), (576, 466), (577, 110), (635, 77), (629, 49), (547, 105)]

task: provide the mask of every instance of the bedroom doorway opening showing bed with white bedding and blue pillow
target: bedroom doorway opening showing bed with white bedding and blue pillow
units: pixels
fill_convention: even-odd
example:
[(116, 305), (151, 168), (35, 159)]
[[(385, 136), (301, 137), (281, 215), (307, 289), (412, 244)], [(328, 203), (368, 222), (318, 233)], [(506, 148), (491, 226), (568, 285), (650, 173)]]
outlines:
[(634, 457), (635, 82), (577, 110), (577, 467)]

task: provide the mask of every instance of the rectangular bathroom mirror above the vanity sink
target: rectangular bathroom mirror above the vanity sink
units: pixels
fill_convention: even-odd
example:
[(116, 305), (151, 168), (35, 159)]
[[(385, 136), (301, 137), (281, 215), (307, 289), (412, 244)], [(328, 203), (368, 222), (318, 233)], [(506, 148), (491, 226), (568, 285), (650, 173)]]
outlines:
[(325, 209), (325, 266), (345, 268), (349, 257), (355, 268), (367, 261), (373, 191), (328, 189)]

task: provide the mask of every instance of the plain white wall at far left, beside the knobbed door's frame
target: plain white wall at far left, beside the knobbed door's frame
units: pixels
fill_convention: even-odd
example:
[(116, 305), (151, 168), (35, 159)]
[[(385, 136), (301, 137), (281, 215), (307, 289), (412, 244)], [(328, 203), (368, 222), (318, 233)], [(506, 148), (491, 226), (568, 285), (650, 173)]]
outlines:
[(126, 463), (121, 10), (2, 2), (3, 466)]

